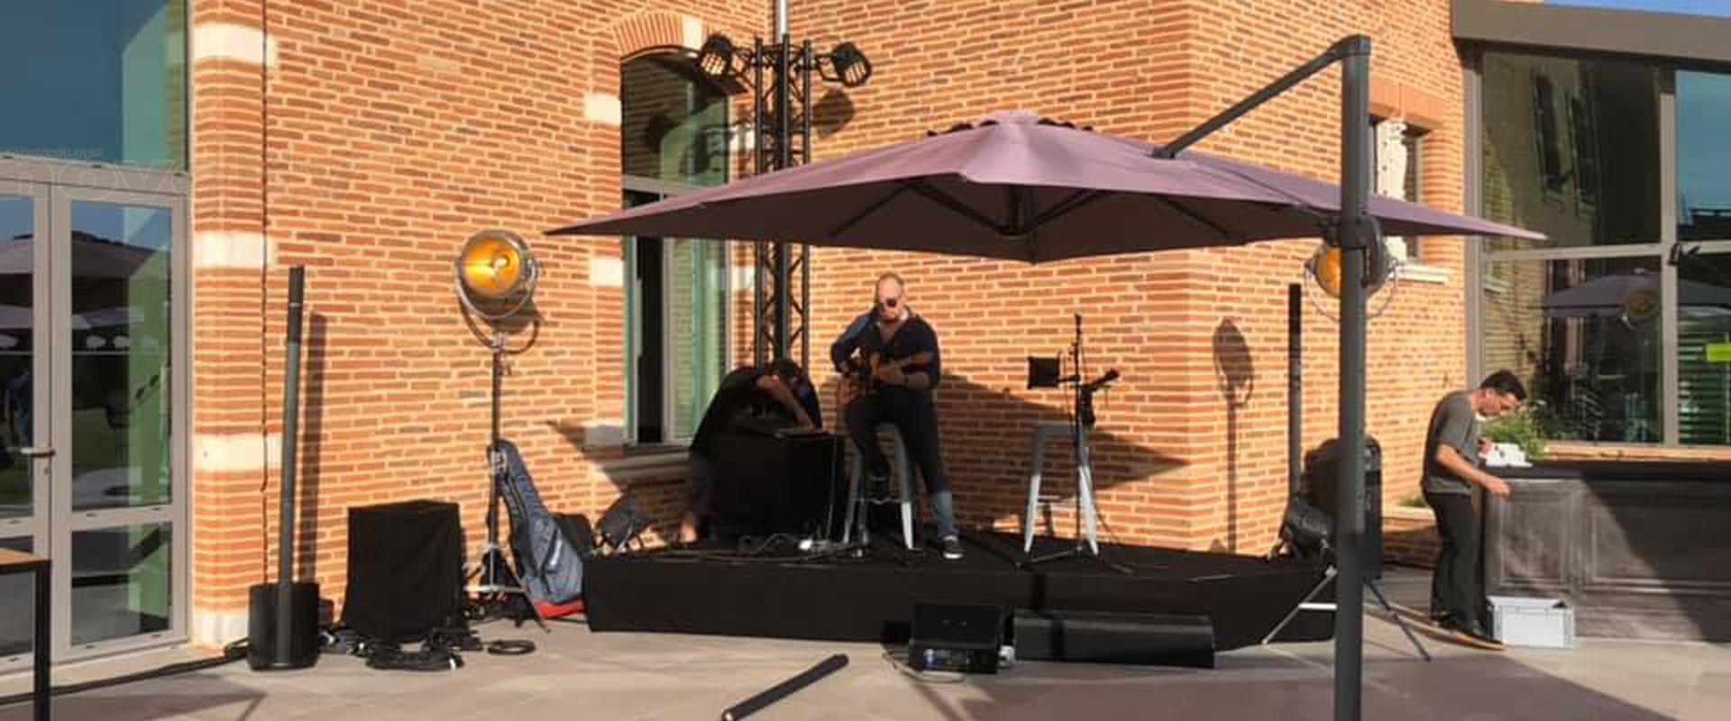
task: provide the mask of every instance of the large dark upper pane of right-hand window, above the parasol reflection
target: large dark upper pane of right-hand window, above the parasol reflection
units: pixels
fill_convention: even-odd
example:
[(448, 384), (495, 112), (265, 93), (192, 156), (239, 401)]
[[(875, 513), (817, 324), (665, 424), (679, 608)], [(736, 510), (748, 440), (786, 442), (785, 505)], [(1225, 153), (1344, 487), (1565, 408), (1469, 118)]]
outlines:
[(1546, 233), (1544, 247), (1658, 242), (1655, 67), (1487, 52), (1482, 90), (1487, 218)]

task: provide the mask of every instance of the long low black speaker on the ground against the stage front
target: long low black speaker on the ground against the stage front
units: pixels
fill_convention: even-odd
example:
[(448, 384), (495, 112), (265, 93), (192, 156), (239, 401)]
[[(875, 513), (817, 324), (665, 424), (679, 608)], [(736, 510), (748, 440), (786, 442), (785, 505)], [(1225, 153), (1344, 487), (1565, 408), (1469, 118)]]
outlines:
[(1018, 660), (1213, 667), (1213, 621), (1187, 614), (1018, 609)]

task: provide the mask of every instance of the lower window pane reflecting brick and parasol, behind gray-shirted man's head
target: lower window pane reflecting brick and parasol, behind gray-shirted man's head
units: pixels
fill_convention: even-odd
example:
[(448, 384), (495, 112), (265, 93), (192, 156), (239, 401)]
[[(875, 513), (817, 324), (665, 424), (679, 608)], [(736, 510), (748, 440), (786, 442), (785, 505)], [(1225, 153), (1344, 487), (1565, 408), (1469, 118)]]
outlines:
[(1549, 437), (1660, 443), (1657, 258), (1497, 261), (1483, 282), (1485, 370), (1513, 370)]

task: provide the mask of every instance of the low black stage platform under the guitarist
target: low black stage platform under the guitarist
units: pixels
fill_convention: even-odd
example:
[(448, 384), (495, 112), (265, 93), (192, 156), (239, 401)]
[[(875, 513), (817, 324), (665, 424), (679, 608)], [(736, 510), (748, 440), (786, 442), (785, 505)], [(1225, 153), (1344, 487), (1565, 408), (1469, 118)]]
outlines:
[[(897, 536), (898, 538), (898, 536)], [(585, 567), (589, 628), (834, 641), (907, 641), (916, 602), (988, 603), (1004, 609), (1205, 614), (1215, 650), (1262, 641), (1322, 567), (1101, 543), (1101, 553), (1132, 574), (1065, 558), (1016, 567), (1021, 539), (962, 534), (968, 555), (943, 560), (936, 548), (907, 555), (874, 534), (864, 558), (741, 558), (727, 552), (651, 550), (594, 558)], [(1035, 555), (1068, 539), (1037, 539)], [(1317, 600), (1331, 600), (1331, 588)], [(1333, 636), (1333, 614), (1303, 612), (1281, 641)]]

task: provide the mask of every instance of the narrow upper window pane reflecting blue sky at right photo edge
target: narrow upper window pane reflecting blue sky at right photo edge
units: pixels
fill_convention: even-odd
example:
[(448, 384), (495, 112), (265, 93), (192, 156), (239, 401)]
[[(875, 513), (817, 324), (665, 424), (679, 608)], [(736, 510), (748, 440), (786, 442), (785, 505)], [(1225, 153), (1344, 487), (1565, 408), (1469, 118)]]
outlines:
[(1731, 240), (1731, 74), (1677, 73), (1677, 239)]

